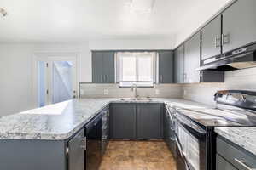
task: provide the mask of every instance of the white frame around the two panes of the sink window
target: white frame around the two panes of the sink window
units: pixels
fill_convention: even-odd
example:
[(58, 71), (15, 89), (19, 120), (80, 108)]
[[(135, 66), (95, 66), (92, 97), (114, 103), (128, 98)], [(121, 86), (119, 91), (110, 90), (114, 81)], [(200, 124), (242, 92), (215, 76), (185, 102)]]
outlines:
[[(152, 80), (153, 81), (121, 81), (121, 75), (120, 75), (120, 67), (122, 65), (121, 57), (120, 55), (138, 55), (138, 54), (152, 54)], [(150, 52), (117, 52), (115, 53), (115, 80), (117, 83), (119, 83), (120, 87), (131, 87), (134, 84), (137, 84), (137, 86), (141, 87), (153, 87), (154, 83), (157, 83), (157, 62), (158, 62), (158, 53), (154, 51)], [(136, 65), (136, 69), (137, 69)], [(138, 71), (136, 71), (138, 73)], [(138, 75), (137, 75), (138, 77)], [(138, 79), (138, 78), (137, 78)]]

